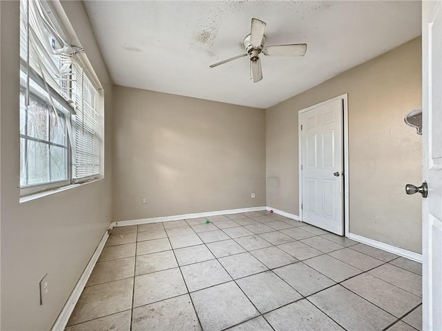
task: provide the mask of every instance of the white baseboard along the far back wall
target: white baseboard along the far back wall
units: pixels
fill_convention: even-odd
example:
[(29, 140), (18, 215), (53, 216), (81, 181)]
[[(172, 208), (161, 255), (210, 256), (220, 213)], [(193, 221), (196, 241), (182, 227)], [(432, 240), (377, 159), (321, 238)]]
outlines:
[(132, 219), (132, 220), (128, 220), (128, 221), (112, 222), (111, 227), (113, 228), (115, 226), (127, 226), (127, 225), (139, 225), (139, 224), (147, 224), (147, 223), (166, 222), (166, 221), (178, 221), (180, 219), (198, 219), (198, 217), (210, 217), (210, 216), (225, 215), (225, 214), (238, 214), (240, 212), (259, 212), (261, 210), (266, 210), (266, 207), (251, 207), (251, 208), (218, 210), (215, 212), (196, 212), (194, 214), (152, 217), (150, 219)]

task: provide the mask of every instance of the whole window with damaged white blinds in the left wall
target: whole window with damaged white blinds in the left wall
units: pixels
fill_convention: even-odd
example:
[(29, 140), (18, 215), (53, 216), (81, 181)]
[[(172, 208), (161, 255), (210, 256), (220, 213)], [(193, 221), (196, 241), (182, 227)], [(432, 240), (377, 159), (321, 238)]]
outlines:
[(53, 12), (50, 2), (21, 0), (22, 195), (100, 175), (102, 88)]

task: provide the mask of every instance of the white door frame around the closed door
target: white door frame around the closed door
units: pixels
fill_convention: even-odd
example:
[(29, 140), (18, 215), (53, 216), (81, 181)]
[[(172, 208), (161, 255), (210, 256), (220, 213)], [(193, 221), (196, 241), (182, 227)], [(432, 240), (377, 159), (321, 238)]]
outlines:
[(338, 97), (334, 97), (333, 99), (329, 99), (327, 101), (323, 101), (321, 103), (316, 103), (316, 105), (304, 108), (299, 110), (298, 112), (298, 170), (299, 170), (299, 219), (302, 221), (302, 170), (301, 170), (301, 114), (304, 112), (308, 112), (314, 108), (318, 108), (323, 106), (329, 102), (333, 102), (336, 100), (343, 101), (343, 217), (344, 217), (344, 234), (345, 237), (348, 237), (349, 234), (349, 161), (348, 161), (348, 94), (342, 94)]

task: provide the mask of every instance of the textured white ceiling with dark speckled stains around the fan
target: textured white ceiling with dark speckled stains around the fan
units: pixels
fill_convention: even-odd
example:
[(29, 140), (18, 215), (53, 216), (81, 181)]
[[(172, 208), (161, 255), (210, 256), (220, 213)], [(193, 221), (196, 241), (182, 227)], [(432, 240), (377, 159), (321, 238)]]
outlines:
[[(84, 1), (113, 81), (269, 108), (421, 34), (420, 1)], [(261, 55), (249, 79), (251, 18), (266, 45), (307, 43), (305, 57)]]

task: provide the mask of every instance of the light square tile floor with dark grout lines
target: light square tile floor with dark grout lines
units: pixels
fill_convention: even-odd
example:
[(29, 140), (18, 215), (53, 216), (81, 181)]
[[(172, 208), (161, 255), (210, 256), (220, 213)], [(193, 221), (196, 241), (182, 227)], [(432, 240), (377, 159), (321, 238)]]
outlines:
[(269, 212), (114, 228), (79, 330), (421, 330), (421, 265)]

